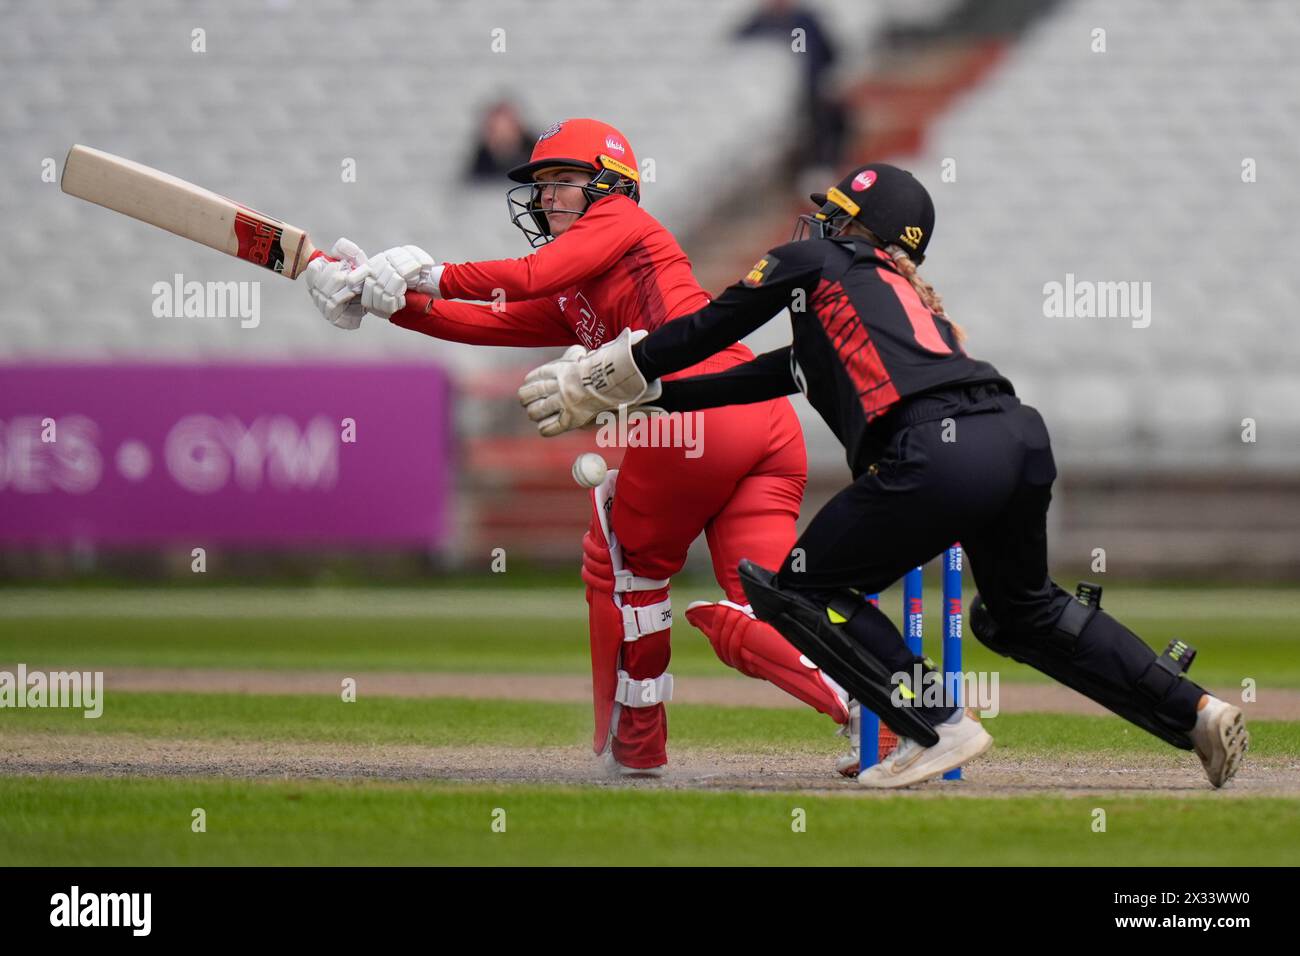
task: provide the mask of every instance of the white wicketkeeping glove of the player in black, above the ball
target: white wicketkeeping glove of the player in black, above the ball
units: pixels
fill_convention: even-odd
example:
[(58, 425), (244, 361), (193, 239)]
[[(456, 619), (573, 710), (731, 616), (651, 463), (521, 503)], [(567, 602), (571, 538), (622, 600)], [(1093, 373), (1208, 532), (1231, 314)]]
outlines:
[(647, 382), (632, 360), (632, 345), (647, 334), (624, 329), (594, 351), (575, 354), (569, 349), (559, 360), (529, 372), (519, 389), (519, 403), (537, 431), (551, 438), (581, 428), (602, 411), (659, 398), (659, 380)]

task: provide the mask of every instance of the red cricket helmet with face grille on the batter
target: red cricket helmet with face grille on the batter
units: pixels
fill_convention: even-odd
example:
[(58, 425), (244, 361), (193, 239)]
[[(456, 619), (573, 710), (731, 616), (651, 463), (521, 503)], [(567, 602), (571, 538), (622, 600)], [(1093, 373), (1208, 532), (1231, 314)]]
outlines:
[(610, 195), (625, 195), (634, 203), (641, 202), (637, 157), (627, 137), (599, 120), (563, 120), (537, 138), (528, 163), (507, 173), (511, 179), (523, 183), (506, 193), (510, 221), (534, 247), (551, 239), (546, 209), (541, 204), (540, 187), (545, 183), (540, 183), (536, 176), (538, 170), (552, 166), (592, 170), (592, 182), (581, 187), (588, 207)]

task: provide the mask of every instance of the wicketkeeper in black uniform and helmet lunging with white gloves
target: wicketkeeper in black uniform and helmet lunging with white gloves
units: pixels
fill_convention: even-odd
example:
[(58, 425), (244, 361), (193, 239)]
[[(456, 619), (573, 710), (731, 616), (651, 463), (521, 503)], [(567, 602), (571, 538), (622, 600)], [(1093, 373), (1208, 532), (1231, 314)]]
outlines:
[[(800, 219), (811, 238), (774, 248), (706, 308), (534, 369), (520, 389), (529, 416), (551, 436), (620, 405), (684, 412), (807, 395), (844, 444), (853, 484), (777, 571), (742, 562), (741, 578), (758, 618), (898, 734), (897, 750), (861, 783), (927, 780), (992, 744), (950, 695), (923, 695), (941, 675), (863, 600), (961, 541), (979, 588), (970, 627), (980, 641), (1195, 749), (1223, 786), (1248, 737), (1239, 708), (1187, 679), (1196, 652), (1174, 641), (1156, 654), (1101, 609), (1100, 587), (1071, 596), (1048, 574), (1048, 431), (993, 365), (966, 354), (965, 333), (916, 274), (935, 224), (926, 189), (872, 164), (812, 200), (818, 212)], [(790, 346), (659, 381), (786, 308)]]

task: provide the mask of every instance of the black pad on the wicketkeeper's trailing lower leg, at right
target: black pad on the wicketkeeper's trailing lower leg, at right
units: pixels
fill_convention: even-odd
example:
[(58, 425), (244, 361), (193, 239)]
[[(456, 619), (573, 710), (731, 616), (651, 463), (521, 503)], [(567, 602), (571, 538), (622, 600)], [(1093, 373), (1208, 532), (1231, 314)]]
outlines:
[[(1201, 688), (1184, 678), (1196, 649), (1170, 641), (1156, 654), (1145, 641), (1101, 610), (1101, 585), (1082, 581), (1065, 596), (1056, 623), (1035, 633), (1002, 627), (976, 594), (970, 606), (971, 633), (989, 649), (1027, 663), (1095, 700), (1126, 721), (1184, 750)], [(1183, 724), (1183, 726), (1180, 726)]]

